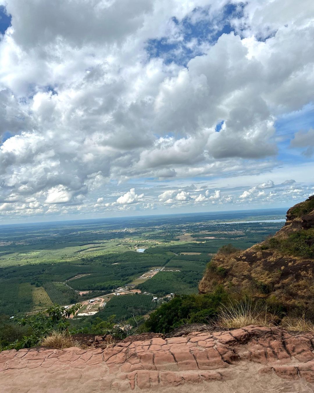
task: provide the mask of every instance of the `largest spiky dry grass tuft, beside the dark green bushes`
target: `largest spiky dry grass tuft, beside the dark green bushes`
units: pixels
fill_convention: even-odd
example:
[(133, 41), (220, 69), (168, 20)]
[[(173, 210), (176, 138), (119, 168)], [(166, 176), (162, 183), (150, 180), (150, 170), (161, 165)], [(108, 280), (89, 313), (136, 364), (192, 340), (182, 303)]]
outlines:
[(222, 307), (218, 315), (221, 327), (240, 328), (248, 325), (274, 326), (274, 315), (267, 312), (267, 307), (253, 305), (252, 300), (244, 299)]

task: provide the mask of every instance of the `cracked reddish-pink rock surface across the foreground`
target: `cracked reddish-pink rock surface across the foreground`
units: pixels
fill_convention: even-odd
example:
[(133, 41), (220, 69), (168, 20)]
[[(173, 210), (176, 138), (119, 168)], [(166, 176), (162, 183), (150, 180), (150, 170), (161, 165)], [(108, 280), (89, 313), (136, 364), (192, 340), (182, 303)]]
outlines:
[(314, 335), (257, 325), (83, 350), (0, 353), (0, 392), (311, 392)]

